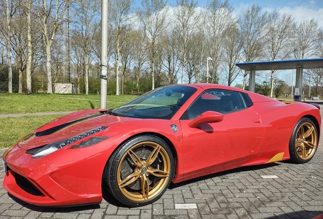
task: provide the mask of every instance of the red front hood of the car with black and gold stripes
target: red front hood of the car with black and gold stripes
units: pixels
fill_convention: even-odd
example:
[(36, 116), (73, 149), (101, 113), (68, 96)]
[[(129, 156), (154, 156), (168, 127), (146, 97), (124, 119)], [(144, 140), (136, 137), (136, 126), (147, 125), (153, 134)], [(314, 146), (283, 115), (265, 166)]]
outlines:
[[(36, 129), (33, 133), (21, 138), (18, 142), (18, 147), (24, 150), (30, 150), (76, 136), (98, 127), (112, 127), (118, 123), (123, 123), (125, 120), (138, 120), (135, 118), (111, 116), (103, 112), (100, 109), (90, 109), (53, 120)], [(117, 132), (120, 132), (120, 128), (117, 130)], [(113, 131), (115, 132), (115, 129)]]

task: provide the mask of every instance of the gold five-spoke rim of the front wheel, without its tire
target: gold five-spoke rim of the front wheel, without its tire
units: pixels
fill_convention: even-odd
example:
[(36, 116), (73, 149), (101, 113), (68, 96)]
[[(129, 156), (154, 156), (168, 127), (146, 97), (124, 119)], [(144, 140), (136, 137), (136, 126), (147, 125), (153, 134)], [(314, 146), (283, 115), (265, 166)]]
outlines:
[(117, 183), (122, 194), (136, 202), (158, 195), (167, 185), (171, 162), (158, 143), (145, 141), (135, 144), (121, 158)]

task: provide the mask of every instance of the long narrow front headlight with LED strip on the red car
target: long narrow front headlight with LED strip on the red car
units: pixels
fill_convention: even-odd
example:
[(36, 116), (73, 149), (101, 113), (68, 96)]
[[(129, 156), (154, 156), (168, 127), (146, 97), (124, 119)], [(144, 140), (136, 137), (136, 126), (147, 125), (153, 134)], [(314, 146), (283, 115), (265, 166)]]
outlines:
[(40, 158), (40, 157), (44, 157), (46, 155), (49, 155), (49, 154), (53, 153), (54, 151), (57, 151), (58, 149), (61, 149), (61, 148), (66, 147), (67, 145), (69, 145), (71, 143), (74, 143), (75, 141), (78, 141), (78, 140), (80, 140), (80, 139), (82, 139), (84, 137), (87, 137), (89, 135), (92, 135), (92, 134), (94, 134), (96, 132), (102, 131), (102, 130), (107, 129), (107, 128), (110, 128), (110, 127), (102, 126), (102, 127), (95, 128), (95, 129), (89, 130), (87, 132), (78, 134), (76, 136), (70, 137), (70, 138), (65, 139), (65, 140), (56, 141), (56, 142), (47, 144), (45, 147), (43, 147), (39, 151), (37, 151), (33, 155), (33, 158)]

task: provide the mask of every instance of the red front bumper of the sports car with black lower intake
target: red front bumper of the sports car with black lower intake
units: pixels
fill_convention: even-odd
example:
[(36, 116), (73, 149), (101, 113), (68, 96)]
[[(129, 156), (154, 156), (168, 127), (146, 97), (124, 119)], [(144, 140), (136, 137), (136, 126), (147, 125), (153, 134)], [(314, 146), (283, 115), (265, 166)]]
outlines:
[(6, 167), (3, 186), (13, 196), (34, 205), (100, 203), (102, 173), (109, 156), (95, 148), (98, 150), (95, 146), (60, 149), (35, 159), (15, 145), (3, 156)]

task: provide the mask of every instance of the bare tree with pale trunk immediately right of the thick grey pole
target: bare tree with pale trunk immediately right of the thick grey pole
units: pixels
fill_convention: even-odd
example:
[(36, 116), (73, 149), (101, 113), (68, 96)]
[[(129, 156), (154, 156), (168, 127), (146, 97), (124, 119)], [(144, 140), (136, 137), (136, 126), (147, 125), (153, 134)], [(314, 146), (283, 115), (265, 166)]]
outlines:
[(116, 55), (116, 95), (119, 95), (119, 62), (121, 59), (120, 50), (125, 44), (127, 38), (121, 38), (128, 26), (130, 26), (130, 14), (133, 0), (110, 0), (109, 1), (109, 16), (110, 16), (110, 31), (114, 36), (115, 55)]

